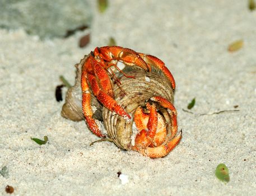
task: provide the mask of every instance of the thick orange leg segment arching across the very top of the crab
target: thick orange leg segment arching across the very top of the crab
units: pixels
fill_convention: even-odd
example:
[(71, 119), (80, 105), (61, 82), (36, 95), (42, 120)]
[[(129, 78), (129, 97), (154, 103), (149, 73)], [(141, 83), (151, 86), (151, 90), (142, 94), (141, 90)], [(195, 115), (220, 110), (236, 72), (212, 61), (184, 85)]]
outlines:
[(106, 62), (121, 60), (128, 66), (139, 66), (145, 71), (151, 71), (151, 67), (134, 50), (121, 46), (104, 46), (95, 48), (94, 54), (103, 58)]

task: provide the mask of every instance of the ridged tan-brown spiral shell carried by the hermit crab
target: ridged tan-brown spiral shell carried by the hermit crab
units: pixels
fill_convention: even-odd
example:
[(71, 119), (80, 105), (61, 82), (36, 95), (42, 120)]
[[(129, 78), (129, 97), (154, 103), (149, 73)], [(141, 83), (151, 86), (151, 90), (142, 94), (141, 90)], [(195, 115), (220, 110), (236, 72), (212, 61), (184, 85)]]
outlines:
[[(66, 103), (62, 108), (62, 116), (71, 120), (82, 120), (82, 94), (81, 94), (81, 67), (87, 56), (76, 64), (77, 76), (76, 83), (68, 89), (66, 95)], [(139, 68), (126, 67), (123, 69), (128, 76), (134, 78), (120, 77), (122, 83), (121, 88), (117, 84), (113, 85), (115, 100), (121, 105), (127, 113), (133, 116), (138, 106), (145, 106), (145, 101), (152, 96), (161, 96), (173, 103), (174, 92), (171, 88), (169, 80), (165, 75), (156, 68), (152, 72), (145, 72)], [(104, 122), (108, 137), (113, 139), (113, 142), (123, 150), (130, 150), (133, 137), (133, 119), (127, 120), (119, 116), (113, 111), (103, 107), (91, 92), (91, 105), (94, 110), (94, 118)], [(165, 109), (158, 108), (164, 116), (166, 124), (170, 132), (170, 119)], [(170, 134), (170, 133), (167, 133)]]

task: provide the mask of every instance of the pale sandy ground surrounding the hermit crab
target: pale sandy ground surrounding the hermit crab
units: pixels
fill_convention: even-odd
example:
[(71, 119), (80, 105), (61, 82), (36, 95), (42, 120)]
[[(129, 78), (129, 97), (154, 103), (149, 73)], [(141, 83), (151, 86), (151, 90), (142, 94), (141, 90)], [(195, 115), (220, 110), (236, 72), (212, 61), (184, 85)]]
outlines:
[[(256, 12), (246, 1), (111, 1), (96, 12), (91, 43), (41, 41), (0, 30), (0, 195), (256, 195)], [(151, 159), (97, 139), (85, 122), (60, 116), (59, 75), (113, 36), (118, 45), (161, 58), (176, 80), (180, 144)], [(227, 46), (243, 39), (238, 52)], [(183, 111), (196, 97), (194, 114)], [(204, 115), (220, 110), (239, 111)], [(48, 136), (39, 146), (30, 137)], [(230, 182), (215, 177), (224, 163)], [(122, 185), (117, 172), (128, 176)]]

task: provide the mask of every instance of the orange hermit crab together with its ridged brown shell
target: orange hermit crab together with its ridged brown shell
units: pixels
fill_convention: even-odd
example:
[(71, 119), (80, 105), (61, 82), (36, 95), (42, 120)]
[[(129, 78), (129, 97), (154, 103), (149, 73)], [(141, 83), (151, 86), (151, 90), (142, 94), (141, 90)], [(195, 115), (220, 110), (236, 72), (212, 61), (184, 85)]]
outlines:
[(180, 142), (173, 106), (175, 81), (159, 58), (104, 46), (86, 55), (76, 68), (76, 83), (67, 92), (62, 116), (85, 119), (96, 136), (151, 158), (166, 156)]

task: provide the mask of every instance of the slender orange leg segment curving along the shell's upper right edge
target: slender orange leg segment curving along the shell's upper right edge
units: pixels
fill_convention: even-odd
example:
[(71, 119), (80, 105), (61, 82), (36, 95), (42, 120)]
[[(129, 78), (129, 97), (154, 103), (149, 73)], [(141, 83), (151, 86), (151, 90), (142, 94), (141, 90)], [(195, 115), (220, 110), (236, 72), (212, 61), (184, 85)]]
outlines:
[(165, 66), (165, 63), (162, 62), (159, 58), (153, 56), (153, 55), (148, 55), (148, 54), (143, 54), (143, 53), (138, 53), (143, 60), (145, 60), (146, 63), (149, 63), (157, 68), (159, 68), (165, 76), (170, 80), (171, 82), (171, 87), (173, 90), (175, 89), (175, 80), (173, 77), (173, 74), (169, 71), (169, 69)]

